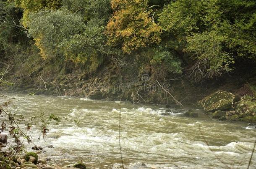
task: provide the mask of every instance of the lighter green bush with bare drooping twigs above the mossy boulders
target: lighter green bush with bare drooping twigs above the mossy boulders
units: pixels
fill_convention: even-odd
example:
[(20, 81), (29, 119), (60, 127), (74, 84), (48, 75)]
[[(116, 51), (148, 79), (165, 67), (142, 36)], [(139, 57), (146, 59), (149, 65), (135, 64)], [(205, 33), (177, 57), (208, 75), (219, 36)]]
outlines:
[(191, 53), (191, 57), (197, 61), (200, 68), (193, 68), (193, 75), (197, 81), (204, 78), (221, 75), (223, 71), (231, 71), (230, 64), (234, 63), (234, 58), (224, 50), (227, 36), (218, 35), (217, 31), (194, 33), (187, 38), (186, 51)]

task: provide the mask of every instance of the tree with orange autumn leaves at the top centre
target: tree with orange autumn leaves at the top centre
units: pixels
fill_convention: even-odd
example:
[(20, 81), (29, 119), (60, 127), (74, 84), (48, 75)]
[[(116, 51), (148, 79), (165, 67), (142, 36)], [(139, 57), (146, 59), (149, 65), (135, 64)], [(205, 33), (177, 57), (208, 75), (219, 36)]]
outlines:
[[(107, 24), (108, 44), (121, 46), (125, 53), (159, 44), (161, 27), (154, 22), (156, 6), (148, 6), (148, 0), (112, 0), (114, 10)], [(153, 18), (153, 19), (152, 19)]]

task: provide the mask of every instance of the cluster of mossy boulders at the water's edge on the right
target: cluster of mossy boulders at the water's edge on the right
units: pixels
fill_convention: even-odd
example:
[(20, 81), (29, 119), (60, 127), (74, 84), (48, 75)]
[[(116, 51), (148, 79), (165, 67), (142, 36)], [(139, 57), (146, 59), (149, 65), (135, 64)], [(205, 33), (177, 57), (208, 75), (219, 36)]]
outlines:
[(256, 99), (253, 94), (240, 97), (227, 91), (217, 91), (197, 102), (214, 119), (256, 122)]

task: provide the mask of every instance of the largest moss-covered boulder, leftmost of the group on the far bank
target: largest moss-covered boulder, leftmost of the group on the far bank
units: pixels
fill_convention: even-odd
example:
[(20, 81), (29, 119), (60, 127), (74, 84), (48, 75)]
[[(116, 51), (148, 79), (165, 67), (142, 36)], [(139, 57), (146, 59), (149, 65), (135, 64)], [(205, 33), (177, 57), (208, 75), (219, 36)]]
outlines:
[(197, 104), (205, 111), (229, 110), (232, 108), (235, 95), (227, 91), (217, 91), (198, 101)]

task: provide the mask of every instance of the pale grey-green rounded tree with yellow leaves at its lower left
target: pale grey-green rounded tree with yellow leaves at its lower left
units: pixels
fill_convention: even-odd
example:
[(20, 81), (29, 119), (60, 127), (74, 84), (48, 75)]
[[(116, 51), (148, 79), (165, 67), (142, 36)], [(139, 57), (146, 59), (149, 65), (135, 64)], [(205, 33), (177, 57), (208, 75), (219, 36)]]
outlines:
[(65, 10), (41, 10), (29, 18), (29, 33), (43, 58), (61, 58), (60, 44), (84, 30), (81, 17)]

